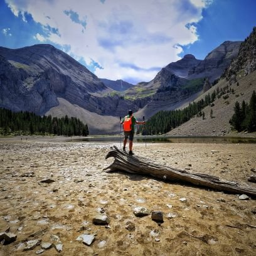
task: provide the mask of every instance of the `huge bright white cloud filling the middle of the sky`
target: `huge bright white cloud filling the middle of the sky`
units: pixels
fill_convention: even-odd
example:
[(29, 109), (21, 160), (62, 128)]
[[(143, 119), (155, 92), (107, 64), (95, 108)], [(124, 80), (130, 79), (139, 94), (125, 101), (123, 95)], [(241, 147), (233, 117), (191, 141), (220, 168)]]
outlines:
[[(36, 34), (37, 40), (69, 45), (69, 53), (77, 59), (83, 58), (88, 65), (92, 60), (99, 63), (103, 69), (96, 68), (98, 77), (149, 81), (157, 73), (154, 67), (177, 61), (181, 46), (198, 40), (195, 24), (212, 0), (6, 2), (16, 16), (29, 13), (48, 30), (47, 38)], [(65, 14), (70, 10), (84, 18), (86, 27)]]

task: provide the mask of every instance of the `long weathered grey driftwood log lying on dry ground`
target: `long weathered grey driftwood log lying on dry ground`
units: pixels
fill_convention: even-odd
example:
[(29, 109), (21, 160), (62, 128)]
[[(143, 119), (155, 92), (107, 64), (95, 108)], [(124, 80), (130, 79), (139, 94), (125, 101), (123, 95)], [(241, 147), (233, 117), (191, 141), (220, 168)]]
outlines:
[(240, 186), (233, 181), (225, 181), (210, 174), (192, 173), (186, 170), (157, 165), (152, 160), (144, 157), (129, 156), (127, 152), (120, 151), (115, 146), (105, 158), (109, 157), (114, 157), (114, 162), (104, 169), (108, 170), (108, 172), (125, 171), (127, 173), (163, 179), (164, 181), (190, 183), (218, 191), (256, 196), (256, 189), (250, 186)]

